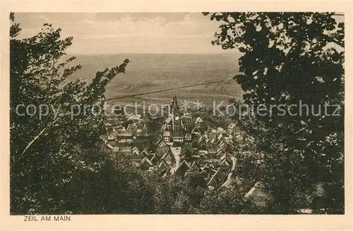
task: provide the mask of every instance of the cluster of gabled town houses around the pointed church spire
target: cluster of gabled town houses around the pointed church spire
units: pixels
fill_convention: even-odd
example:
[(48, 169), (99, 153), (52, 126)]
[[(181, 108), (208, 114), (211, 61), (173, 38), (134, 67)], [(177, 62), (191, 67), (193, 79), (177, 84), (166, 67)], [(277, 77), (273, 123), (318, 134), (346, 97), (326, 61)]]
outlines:
[(174, 96), (169, 115), (158, 123), (129, 116), (124, 125), (114, 126), (105, 143), (116, 158), (162, 177), (201, 173), (208, 187), (228, 187), (236, 163), (229, 144), (237, 137), (234, 123), (212, 127), (201, 116), (181, 113)]

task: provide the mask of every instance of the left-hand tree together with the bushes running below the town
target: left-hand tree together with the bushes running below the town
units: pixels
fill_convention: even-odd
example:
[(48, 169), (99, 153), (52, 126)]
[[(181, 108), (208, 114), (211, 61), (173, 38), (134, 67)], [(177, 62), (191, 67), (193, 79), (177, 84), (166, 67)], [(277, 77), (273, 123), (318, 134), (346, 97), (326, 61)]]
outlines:
[[(203, 177), (196, 173), (161, 179), (116, 162), (100, 140), (106, 133), (104, 113), (89, 107), (72, 115), (73, 105), (83, 110), (102, 104), (105, 87), (124, 73), (128, 60), (97, 72), (90, 83), (71, 80), (80, 69), (71, 64), (76, 57), (65, 54), (73, 38), (61, 39), (60, 29), (45, 24), (39, 34), (17, 39), (20, 27), (13, 13), (10, 19), (11, 214), (241, 212), (227, 204), (235, 190), (205, 196)], [(28, 105), (55, 110), (42, 117), (39, 111), (18, 115)], [(232, 202), (241, 201), (242, 195), (235, 195)]]

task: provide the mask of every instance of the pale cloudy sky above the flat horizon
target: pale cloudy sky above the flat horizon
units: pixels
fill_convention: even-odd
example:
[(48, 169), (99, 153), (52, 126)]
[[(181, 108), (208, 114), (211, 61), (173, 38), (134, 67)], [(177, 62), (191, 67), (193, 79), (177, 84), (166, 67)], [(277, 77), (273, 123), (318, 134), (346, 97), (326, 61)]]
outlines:
[[(16, 13), (21, 37), (40, 32), (44, 23), (73, 36), (70, 54), (210, 54), (219, 22), (202, 13)], [(232, 52), (232, 51), (230, 51)]]

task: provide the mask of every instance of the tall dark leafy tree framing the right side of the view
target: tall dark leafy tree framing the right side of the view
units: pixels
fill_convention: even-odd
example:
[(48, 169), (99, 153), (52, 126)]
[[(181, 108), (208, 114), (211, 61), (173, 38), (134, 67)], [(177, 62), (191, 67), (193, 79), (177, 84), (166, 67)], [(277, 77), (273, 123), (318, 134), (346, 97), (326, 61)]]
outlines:
[(318, 184), (326, 212), (344, 213), (344, 23), (335, 13), (204, 15), (221, 22), (213, 44), (243, 53), (234, 79), (244, 101), (232, 104), (255, 108), (239, 125), (253, 138), (253, 154), (262, 154), (261, 165), (239, 156), (238, 174), (266, 185), (274, 213), (308, 205)]

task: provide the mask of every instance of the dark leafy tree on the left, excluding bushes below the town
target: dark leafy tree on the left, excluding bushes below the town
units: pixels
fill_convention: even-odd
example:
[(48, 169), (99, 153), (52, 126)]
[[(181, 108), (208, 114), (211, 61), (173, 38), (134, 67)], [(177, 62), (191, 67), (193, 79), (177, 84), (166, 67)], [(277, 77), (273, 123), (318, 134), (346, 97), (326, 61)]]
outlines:
[[(10, 19), (14, 20), (11, 13)], [(95, 106), (114, 76), (124, 73), (128, 60), (98, 72), (90, 84), (68, 77), (80, 69), (66, 58), (72, 37), (44, 24), (39, 34), (16, 39), (11, 25), (11, 213), (69, 213), (83, 200), (81, 180), (98, 173), (107, 155), (101, 153), (104, 115), (92, 110), (74, 118), (71, 106)], [(65, 59), (66, 58), (66, 59)], [(34, 116), (20, 106), (36, 106)], [(60, 110), (45, 113), (40, 105)], [(16, 112), (16, 110), (18, 110)], [(18, 115), (23, 113), (23, 116)], [(72, 118), (72, 119), (71, 119)]]

